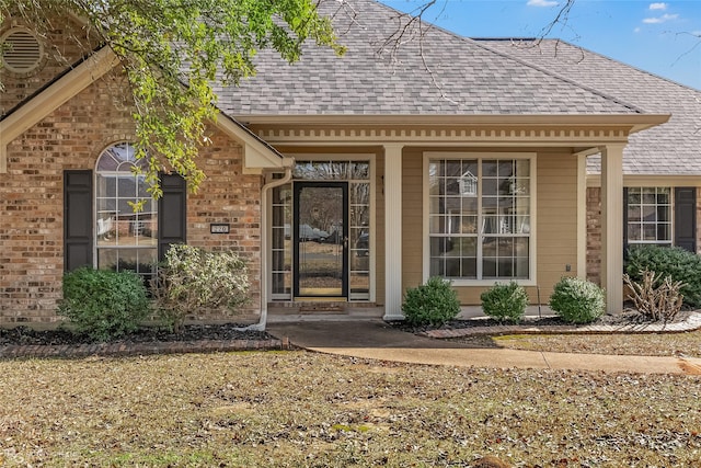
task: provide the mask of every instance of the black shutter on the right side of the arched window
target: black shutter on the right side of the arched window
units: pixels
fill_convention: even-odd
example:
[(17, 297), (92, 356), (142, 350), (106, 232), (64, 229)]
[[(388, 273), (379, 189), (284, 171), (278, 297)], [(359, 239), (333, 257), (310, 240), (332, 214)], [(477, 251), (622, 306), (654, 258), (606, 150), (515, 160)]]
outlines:
[(187, 183), (179, 174), (162, 174), (163, 196), (158, 202), (158, 258), (173, 243), (187, 241)]

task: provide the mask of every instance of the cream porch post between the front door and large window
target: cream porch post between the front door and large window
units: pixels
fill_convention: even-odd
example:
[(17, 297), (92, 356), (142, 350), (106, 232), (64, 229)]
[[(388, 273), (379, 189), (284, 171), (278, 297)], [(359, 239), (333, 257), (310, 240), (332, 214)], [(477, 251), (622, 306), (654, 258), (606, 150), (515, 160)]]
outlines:
[(384, 145), (384, 320), (402, 320), (402, 147)]

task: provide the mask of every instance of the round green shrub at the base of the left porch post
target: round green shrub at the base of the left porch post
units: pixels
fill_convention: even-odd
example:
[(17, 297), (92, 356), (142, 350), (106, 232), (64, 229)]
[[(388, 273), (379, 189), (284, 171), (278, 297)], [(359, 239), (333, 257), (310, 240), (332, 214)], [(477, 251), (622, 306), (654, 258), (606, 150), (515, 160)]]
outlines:
[(460, 301), (449, 281), (433, 276), (406, 289), (402, 311), (410, 324), (439, 327), (460, 313)]

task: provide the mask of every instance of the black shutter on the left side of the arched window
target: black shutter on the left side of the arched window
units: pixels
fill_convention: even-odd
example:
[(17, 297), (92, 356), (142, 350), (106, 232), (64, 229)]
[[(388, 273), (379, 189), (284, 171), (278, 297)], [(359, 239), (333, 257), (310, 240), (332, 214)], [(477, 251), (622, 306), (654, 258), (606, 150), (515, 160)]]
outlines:
[(92, 266), (92, 171), (64, 171), (64, 270)]

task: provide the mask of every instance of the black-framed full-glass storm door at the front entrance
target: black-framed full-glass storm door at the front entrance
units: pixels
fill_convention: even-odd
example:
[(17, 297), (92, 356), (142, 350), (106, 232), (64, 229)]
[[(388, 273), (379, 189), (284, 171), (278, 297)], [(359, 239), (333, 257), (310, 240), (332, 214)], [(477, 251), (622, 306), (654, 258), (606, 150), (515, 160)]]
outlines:
[(348, 297), (348, 184), (296, 182), (295, 297)]

